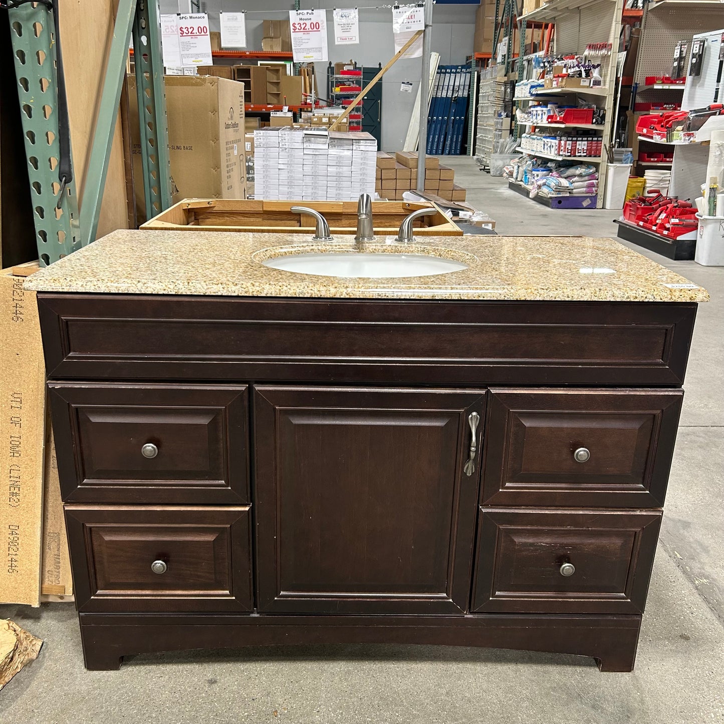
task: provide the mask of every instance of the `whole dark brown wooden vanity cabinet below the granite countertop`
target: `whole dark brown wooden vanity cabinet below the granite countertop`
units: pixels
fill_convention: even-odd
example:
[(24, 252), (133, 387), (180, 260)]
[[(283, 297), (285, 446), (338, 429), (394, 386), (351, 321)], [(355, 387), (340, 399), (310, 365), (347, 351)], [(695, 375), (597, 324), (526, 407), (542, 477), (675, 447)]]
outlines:
[(38, 300), (88, 668), (325, 642), (633, 668), (696, 305)]

